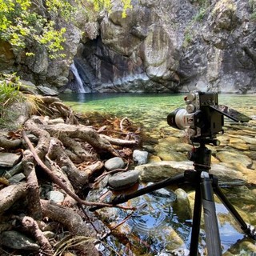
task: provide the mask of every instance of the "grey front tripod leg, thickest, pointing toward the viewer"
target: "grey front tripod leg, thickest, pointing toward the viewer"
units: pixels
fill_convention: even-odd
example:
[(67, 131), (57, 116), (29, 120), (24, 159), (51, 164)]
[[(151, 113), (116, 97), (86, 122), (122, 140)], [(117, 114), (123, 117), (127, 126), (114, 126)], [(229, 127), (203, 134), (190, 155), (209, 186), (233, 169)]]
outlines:
[(209, 173), (201, 174), (202, 207), (204, 212), (207, 253), (210, 256), (222, 255), (222, 247), (218, 230), (218, 221), (214, 203), (214, 192)]

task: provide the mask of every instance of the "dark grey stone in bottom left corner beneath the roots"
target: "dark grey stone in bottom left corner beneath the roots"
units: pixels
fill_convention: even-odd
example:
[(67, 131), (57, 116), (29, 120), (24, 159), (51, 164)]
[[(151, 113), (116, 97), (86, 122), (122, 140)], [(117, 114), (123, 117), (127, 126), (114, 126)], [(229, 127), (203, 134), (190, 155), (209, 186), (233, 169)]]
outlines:
[(9, 230), (1, 234), (1, 244), (12, 249), (17, 250), (39, 250), (40, 246), (26, 235), (18, 231)]

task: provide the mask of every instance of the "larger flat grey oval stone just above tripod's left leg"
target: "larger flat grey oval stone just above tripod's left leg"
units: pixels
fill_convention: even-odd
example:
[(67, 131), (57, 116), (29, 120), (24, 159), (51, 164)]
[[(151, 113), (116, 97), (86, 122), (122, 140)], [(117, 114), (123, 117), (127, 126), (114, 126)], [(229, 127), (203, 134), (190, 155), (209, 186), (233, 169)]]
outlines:
[(134, 183), (138, 182), (138, 174), (138, 170), (128, 170), (114, 174), (109, 178), (108, 185), (114, 190), (132, 186)]

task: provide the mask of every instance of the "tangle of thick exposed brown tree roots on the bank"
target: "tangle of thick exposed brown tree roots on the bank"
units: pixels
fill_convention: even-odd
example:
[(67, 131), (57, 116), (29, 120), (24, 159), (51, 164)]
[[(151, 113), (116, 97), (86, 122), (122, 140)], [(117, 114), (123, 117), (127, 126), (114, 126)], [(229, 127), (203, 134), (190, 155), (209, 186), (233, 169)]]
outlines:
[[(11, 172), (6, 172), (2, 177), (0, 233), (14, 228), (12, 218), (20, 220), (22, 225), (15, 226), (15, 230), (20, 229), (20, 232), (26, 230), (26, 234), (31, 234), (41, 246), (42, 254), (54, 255), (58, 248), (42, 233), (42, 227), (46, 226), (45, 222), (58, 223), (58, 226), (67, 230), (72, 236), (72, 241), (76, 237), (84, 237), (82, 239), (84, 243), (78, 246), (72, 243), (72, 249), (78, 251), (79, 255), (99, 255), (94, 241), (97, 240), (97, 233), (101, 231), (98, 231), (90, 222), (86, 207), (101, 208), (114, 205), (100, 202), (100, 200), (86, 201), (84, 199), (86, 194), (84, 196), (81, 194), (85, 188), (89, 190), (94, 187), (94, 182), (106, 175), (104, 162), (107, 158), (125, 156), (124, 160), (127, 162), (126, 169), (113, 170), (107, 174), (127, 170), (132, 150), (139, 143), (138, 134), (130, 134), (127, 131), (127, 126), (130, 126), (127, 118), (122, 119), (120, 126), (114, 122), (114, 129), (102, 126), (102, 129), (97, 130), (96, 127), (79, 124), (78, 115), (58, 98), (40, 97), (39, 99), (42, 104), (40, 113), (50, 116), (28, 117), (24, 123), (22, 136), (19, 133), (17, 138), (16, 136), (12, 139), (0, 137), (2, 150), (22, 152), (22, 168), (15, 167), (14, 174), (22, 172), (26, 177), (26, 182), (17, 182), (12, 185), (8, 181), (13, 175)], [(60, 121), (58, 124), (53, 124), (58, 121)], [(105, 133), (106, 130), (107, 135), (100, 134)], [(29, 133), (36, 137), (34, 142), (30, 141)], [(115, 138), (112, 138), (111, 133)], [(118, 136), (120, 138), (117, 138)], [(65, 197), (64, 201), (56, 204), (45, 200), (46, 196), (42, 195), (44, 192), (42, 186), (45, 183), (53, 190), (61, 191)], [(134, 210), (126, 206), (114, 207)], [(14, 214), (10, 214), (13, 211)], [(11, 247), (9, 253), (13, 253)]]

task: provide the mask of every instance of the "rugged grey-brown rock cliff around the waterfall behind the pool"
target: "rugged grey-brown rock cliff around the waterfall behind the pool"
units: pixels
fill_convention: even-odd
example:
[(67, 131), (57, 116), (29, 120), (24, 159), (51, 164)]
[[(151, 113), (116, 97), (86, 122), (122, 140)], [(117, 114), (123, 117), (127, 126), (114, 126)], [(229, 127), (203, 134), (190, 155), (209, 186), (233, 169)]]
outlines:
[(94, 18), (78, 14), (64, 60), (43, 49), (0, 55), (39, 88), (75, 90), (74, 62), (86, 92), (256, 92), (255, 0), (141, 0), (126, 14), (119, 1)]

